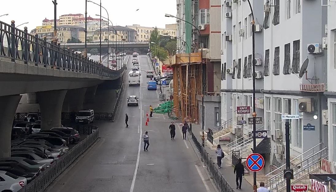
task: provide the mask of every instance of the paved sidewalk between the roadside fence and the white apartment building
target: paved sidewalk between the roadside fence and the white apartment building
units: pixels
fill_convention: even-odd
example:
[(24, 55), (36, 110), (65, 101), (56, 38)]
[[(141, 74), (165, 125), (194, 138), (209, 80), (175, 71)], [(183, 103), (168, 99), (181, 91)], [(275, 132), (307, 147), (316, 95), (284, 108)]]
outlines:
[[(192, 130), (193, 133), (195, 134), (195, 136), (197, 136), (198, 141), (201, 141), (201, 136), (199, 136), (199, 132), (201, 131), (202, 126), (201, 125), (197, 125), (197, 124), (192, 124)], [(191, 135), (187, 134), (187, 138), (188, 140), (193, 143)], [(195, 147), (193, 145), (193, 147)], [(223, 148), (223, 146), (221, 146)], [(209, 153), (209, 155), (211, 156), (213, 162), (215, 164), (217, 164), (217, 156), (215, 153), (215, 148), (211, 149), (208, 145), (207, 145), (207, 141), (205, 141), (205, 146), (204, 146), (205, 150), (207, 151), (207, 153)], [(217, 165), (216, 165), (217, 167)], [(247, 182), (247, 180), (243, 177), (243, 181), (242, 181), (242, 189), (236, 189), (237, 185), (236, 185), (236, 175), (234, 175), (233, 171), (234, 171), (234, 167), (232, 166), (231, 160), (229, 160), (227, 158), (227, 156), (225, 156), (222, 159), (222, 167), (221, 169), (219, 169), (220, 173), (223, 175), (223, 177), (225, 178), (225, 180), (228, 182), (228, 184), (230, 185), (230, 187), (232, 187), (234, 189), (234, 191), (239, 191), (239, 192), (251, 192), (253, 191), (253, 186)], [(250, 173), (252, 174), (252, 173)]]

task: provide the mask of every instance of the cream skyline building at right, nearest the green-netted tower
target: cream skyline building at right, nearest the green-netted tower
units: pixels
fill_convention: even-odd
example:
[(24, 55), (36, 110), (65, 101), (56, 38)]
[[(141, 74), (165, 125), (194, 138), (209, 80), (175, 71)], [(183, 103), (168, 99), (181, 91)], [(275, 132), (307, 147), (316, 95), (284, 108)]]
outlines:
[[(154, 27), (142, 27), (140, 25), (125, 26), (126, 28), (133, 29), (137, 32), (136, 42), (149, 42), (151, 33)], [(158, 28), (159, 35), (170, 35), (176, 37), (176, 24), (167, 24), (166, 28)]]

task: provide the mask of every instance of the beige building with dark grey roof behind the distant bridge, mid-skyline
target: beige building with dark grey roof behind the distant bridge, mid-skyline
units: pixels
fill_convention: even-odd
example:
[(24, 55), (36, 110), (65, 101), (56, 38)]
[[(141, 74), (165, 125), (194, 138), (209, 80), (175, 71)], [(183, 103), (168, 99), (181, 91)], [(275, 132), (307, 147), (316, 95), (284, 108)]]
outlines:
[[(115, 33), (117, 31), (117, 34)], [(136, 31), (127, 27), (122, 26), (114, 26), (114, 28), (110, 27), (101, 29), (101, 40), (107, 41), (122, 41), (122, 39), (126, 39), (126, 42), (134, 42), (135, 41)], [(92, 41), (100, 41), (100, 29), (97, 29), (93, 32)]]

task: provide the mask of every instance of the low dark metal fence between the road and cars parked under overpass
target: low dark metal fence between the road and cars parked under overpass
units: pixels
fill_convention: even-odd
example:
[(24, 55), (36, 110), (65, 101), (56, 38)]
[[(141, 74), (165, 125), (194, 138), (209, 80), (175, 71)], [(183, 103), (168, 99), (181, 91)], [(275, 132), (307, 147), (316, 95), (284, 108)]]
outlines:
[(67, 167), (74, 162), (84, 151), (86, 151), (99, 137), (99, 129), (94, 126), (79, 125), (76, 129), (82, 134), (90, 134), (82, 142), (75, 145), (69, 152), (62, 155), (48, 169), (43, 171), (32, 182), (20, 189), (18, 192), (41, 192), (56, 179)]

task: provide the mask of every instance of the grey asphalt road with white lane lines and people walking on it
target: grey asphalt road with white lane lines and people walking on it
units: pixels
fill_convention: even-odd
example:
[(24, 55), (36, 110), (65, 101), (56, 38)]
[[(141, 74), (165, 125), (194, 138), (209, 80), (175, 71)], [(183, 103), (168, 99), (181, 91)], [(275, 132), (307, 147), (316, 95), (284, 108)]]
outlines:
[[(182, 140), (176, 126), (170, 140), (169, 120), (154, 113), (145, 126), (149, 105), (158, 105), (157, 91), (148, 91), (145, 71), (150, 70), (147, 56), (140, 55), (141, 86), (128, 86), (115, 122), (96, 122), (101, 139), (66, 173), (61, 174), (48, 192), (164, 192), (215, 191), (204, 167), (188, 140)], [(131, 59), (128, 60), (131, 68)], [(126, 79), (126, 82), (128, 80)], [(126, 98), (137, 95), (139, 106), (127, 106)], [(129, 127), (125, 128), (125, 113)], [(177, 124), (176, 124), (177, 125)], [(149, 151), (143, 151), (142, 134), (149, 132)], [(140, 144), (140, 145), (139, 145)]]

